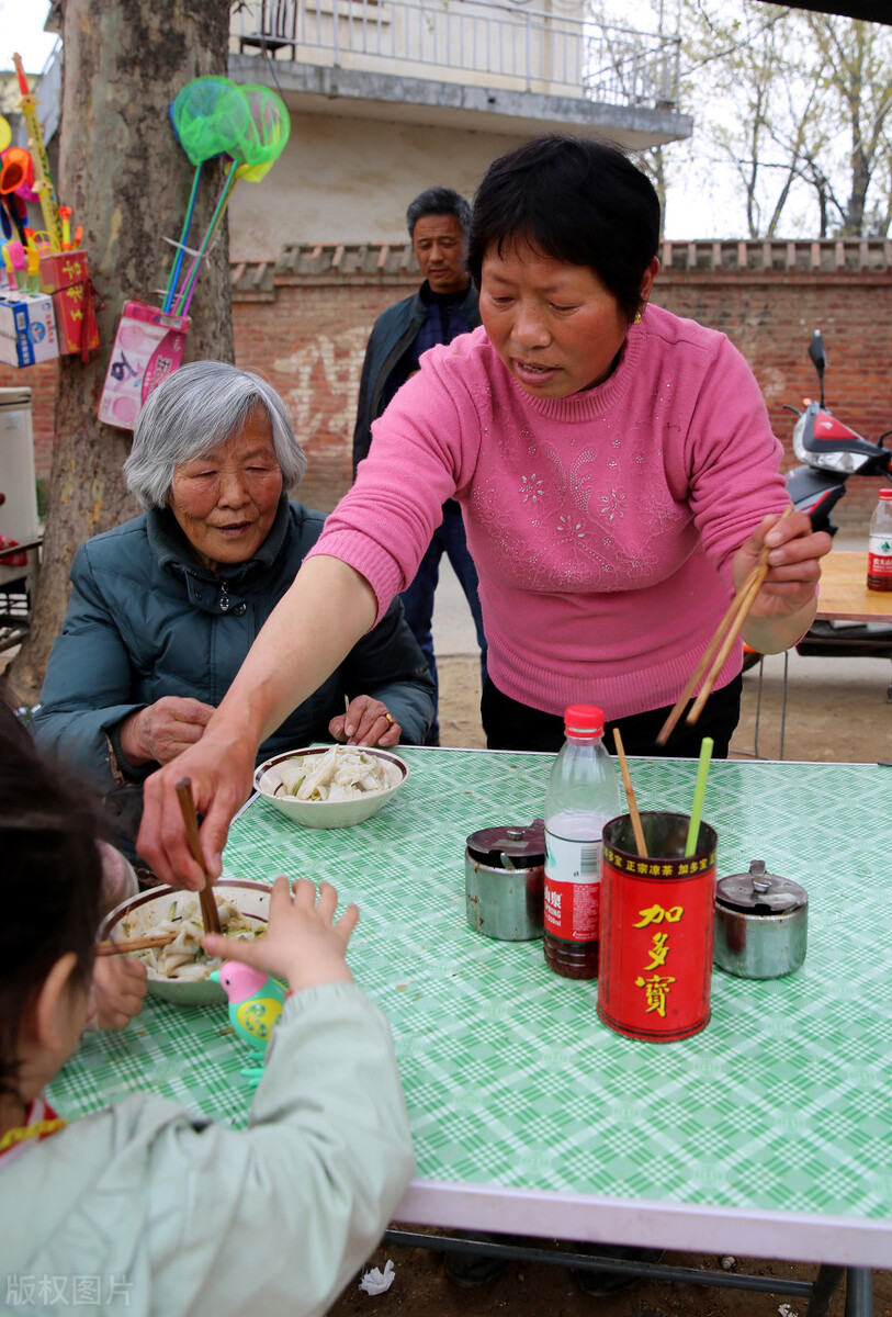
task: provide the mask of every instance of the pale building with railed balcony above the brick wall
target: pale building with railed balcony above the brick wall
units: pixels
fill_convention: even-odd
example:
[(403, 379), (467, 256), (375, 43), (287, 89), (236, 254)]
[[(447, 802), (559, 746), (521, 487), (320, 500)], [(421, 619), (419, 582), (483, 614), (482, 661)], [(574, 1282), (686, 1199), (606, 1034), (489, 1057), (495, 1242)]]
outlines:
[[(585, 0), (246, 0), (229, 76), (278, 91), (291, 137), (262, 205), (251, 184), (233, 194), (232, 259), (404, 242), (417, 192), (470, 198), (489, 161), (539, 133), (632, 150), (687, 138), (678, 59), (676, 38), (603, 26)], [(58, 68), (41, 83), (47, 138), (54, 82)]]

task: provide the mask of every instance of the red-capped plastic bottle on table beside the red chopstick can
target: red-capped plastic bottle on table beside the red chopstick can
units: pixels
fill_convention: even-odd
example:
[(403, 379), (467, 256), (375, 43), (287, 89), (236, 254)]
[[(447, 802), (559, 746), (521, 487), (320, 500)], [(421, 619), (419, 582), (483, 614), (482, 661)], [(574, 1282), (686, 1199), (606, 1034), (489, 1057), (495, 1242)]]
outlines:
[(545, 959), (564, 979), (597, 976), (601, 830), (620, 813), (604, 714), (571, 705), (545, 802)]

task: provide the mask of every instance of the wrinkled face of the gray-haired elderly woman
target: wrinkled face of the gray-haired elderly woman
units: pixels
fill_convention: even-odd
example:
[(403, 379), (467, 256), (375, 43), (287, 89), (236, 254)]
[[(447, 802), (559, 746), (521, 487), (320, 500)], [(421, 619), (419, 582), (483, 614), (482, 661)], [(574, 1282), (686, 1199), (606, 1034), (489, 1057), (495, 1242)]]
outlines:
[(175, 469), (167, 503), (199, 561), (216, 570), (257, 553), (280, 494), (270, 417), (258, 407), (238, 433)]

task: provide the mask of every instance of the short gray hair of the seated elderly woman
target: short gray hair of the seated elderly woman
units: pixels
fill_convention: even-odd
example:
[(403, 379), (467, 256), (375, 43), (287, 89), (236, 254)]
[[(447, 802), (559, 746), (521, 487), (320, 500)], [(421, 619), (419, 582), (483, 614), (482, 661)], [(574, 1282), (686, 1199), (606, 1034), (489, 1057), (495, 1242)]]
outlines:
[(307, 457), (272, 385), (225, 361), (193, 361), (149, 394), (124, 464), (128, 489), (145, 508), (164, 507), (174, 470), (225, 444), (257, 407), (270, 417), (285, 490), (300, 485)]

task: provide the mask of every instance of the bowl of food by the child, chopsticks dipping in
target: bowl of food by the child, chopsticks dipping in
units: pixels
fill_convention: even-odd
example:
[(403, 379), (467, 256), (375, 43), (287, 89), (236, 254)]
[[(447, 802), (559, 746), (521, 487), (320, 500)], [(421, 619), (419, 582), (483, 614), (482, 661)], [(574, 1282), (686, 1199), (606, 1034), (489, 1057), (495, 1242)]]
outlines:
[[(266, 932), (270, 893), (266, 882), (249, 878), (221, 878), (213, 885), (222, 931), (232, 938), (258, 938)], [(226, 1001), (220, 984), (208, 975), (220, 968), (220, 959), (201, 950), (204, 927), (197, 892), (178, 888), (149, 888), (122, 901), (105, 918), (99, 940), (121, 942), (175, 934), (164, 947), (132, 951), (149, 971), (147, 990), (176, 1006), (214, 1006)]]

